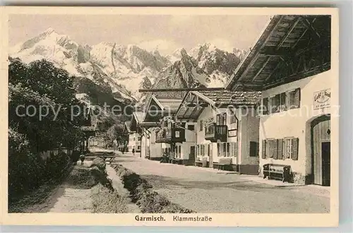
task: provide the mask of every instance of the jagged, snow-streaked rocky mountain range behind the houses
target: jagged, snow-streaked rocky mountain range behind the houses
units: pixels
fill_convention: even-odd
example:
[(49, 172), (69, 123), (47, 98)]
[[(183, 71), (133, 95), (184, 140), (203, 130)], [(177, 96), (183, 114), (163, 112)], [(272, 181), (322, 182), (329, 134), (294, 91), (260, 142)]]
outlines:
[(134, 44), (78, 44), (52, 28), (9, 51), (9, 56), (25, 63), (47, 59), (78, 77), (78, 98), (90, 99), (82, 87), (90, 83), (124, 103), (143, 100), (138, 92), (142, 88), (223, 87), (245, 54), (205, 43), (189, 52), (180, 48), (162, 56), (157, 49), (146, 51)]

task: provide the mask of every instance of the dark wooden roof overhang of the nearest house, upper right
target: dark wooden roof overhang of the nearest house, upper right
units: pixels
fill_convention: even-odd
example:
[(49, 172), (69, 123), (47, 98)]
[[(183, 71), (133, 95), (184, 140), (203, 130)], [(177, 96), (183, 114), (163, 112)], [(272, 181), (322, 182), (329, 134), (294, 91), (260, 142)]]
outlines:
[(270, 18), (225, 87), (267, 90), (330, 69), (330, 15)]

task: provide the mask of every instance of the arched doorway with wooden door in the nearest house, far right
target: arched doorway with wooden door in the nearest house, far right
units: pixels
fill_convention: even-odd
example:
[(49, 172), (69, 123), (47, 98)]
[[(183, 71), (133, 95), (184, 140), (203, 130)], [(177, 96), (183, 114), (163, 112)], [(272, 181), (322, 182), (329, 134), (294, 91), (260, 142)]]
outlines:
[(313, 184), (330, 186), (330, 115), (311, 121), (311, 172)]

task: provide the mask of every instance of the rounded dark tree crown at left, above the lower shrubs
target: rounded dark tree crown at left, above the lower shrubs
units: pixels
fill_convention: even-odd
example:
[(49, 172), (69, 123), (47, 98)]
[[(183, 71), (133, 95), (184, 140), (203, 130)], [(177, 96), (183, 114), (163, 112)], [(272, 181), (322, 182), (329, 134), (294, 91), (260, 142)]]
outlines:
[[(83, 114), (71, 116), (82, 111), (83, 104), (76, 99), (73, 78), (66, 71), (45, 60), (26, 65), (20, 59), (10, 59), (8, 81), (8, 124), (27, 136), (35, 151), (76, 145), (82, 136)], [(34, 109), (36, 114), (26, 114), (27, 107), (30, 115)], [(40, 109), (47, 116), (40, 117)]]

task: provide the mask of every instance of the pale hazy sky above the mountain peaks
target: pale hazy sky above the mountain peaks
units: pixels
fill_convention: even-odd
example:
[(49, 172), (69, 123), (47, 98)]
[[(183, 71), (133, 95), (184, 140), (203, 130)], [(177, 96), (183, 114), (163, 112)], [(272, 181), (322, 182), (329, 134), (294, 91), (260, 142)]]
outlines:
[(68, 35), (79, 44), (100, 42), (137, 44), (161, 54), (189, 50), (210, 42), (226, 51), (249, 49), (270, 16), (172, 15), (11, 15), (9, 46), (23, 43), (47, 28)]

